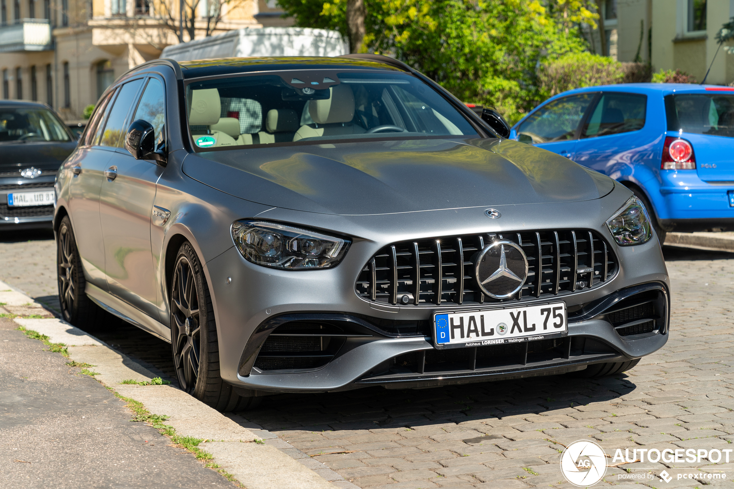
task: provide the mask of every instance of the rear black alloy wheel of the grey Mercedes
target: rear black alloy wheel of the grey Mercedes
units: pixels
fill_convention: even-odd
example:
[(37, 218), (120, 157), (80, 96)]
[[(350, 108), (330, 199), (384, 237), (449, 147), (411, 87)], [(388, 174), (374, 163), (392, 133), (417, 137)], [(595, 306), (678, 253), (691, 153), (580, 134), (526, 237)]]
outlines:
[(81, 257), (69, 216), (62, 218), (56, 236), (59, 305), (64, 320), (85, 331), (94, 331), (102, 325), (109, 325), (112, 323), (112, 316), (94, 304), (84, 293), (87, 281), (84, 279)]

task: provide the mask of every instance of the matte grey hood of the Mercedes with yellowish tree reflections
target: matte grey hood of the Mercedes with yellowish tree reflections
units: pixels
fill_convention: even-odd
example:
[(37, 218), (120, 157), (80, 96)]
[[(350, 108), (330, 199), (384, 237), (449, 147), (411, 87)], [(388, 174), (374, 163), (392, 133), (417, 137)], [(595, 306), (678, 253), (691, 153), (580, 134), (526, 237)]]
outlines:
[(419, 139), (190, 154), (183, 172), (273, 207), (366, 215), (598, 199), (614, 180), (497, 139)]

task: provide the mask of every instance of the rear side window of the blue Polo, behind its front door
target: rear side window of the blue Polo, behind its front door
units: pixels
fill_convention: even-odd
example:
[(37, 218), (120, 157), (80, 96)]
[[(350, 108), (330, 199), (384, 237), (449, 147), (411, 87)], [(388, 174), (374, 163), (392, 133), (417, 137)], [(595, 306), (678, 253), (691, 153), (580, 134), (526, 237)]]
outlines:
[(585, 138), (628, 133), (644, 126), (647, 96), (636, 93), (605, 93), (584, 124)]

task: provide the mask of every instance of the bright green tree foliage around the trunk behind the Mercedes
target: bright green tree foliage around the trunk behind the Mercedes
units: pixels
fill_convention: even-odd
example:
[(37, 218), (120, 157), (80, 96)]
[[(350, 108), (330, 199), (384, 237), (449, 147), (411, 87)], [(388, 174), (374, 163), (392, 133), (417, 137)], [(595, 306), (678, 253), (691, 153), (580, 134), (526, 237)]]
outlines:
[[(297, 26), (346, 36), (346, 0), (278, 0)], [(542, 99), (537, 68), (586, 49), (586, 0), (371, 0), (363, 51), (394, 56), (465, 102), (518, 120)]]

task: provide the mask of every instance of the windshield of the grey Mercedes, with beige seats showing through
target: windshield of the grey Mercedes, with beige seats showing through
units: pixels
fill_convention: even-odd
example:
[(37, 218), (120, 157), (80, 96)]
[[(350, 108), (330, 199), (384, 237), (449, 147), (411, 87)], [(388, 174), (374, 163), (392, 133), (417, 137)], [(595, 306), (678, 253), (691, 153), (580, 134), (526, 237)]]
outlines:
[(303, 144), (363, 138), (477, 136), (462, 114), (401, 73), (294, 70), (193, 81), (194, 147)]

